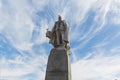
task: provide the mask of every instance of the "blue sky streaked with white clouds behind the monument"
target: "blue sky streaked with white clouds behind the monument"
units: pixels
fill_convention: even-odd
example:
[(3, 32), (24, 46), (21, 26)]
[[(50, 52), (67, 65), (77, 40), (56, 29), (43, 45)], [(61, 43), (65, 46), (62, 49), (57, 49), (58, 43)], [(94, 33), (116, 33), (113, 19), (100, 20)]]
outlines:
[(120, 0), (0, 0), (0, 80), (45, 80), (45, 33), (70, 28), (72, 80), (120, 80)]

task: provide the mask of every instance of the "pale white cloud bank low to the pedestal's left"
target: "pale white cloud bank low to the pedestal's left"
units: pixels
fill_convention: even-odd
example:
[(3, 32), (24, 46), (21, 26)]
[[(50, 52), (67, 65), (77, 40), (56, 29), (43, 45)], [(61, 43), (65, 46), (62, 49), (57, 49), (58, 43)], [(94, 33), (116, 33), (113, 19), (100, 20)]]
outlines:
[[(28, 59), (28, 60), (27, 60)], [(47, 63), (47, 56), (45, 54), (34, 56), (32, 58), (16, 57), (14, 60), (6, 60), (4, 57), (0, 59), (0, 79), (12, 80), (26, 80), (25, 75), (34, 74), (37, 77), (34, 79), (43, 80), (45, 76), (45, 67)], [(27, 76), (30, 77), (30, 76)]]

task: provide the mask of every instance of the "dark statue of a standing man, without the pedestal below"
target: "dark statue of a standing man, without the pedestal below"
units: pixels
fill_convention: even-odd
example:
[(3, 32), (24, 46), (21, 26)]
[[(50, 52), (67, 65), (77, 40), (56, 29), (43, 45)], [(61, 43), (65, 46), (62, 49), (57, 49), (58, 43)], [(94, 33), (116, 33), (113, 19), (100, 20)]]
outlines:
[(52, 31), (47, 31), (46, 36), (50, 39), (50, 43), (54, 47), (63, 45), (67, 48), (69, 43), (68, 36), (68, 27), (64, 20), (61, 19), (61, 16), (58, 17), (58, 21), (55, 22)]

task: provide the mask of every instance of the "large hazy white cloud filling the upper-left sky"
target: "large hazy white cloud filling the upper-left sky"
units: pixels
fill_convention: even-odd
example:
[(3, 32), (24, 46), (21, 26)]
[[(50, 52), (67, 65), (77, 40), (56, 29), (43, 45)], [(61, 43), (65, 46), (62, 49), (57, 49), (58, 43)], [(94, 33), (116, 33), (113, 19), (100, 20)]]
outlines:
[[(32, 21), (36, 11), (40, 11), (46, 4), (46, 1), (30, 1), (27, 0), (14, 0), (14, 1), (1, 1), (0, 11), (0, 33), (4, 34), (11, 42), (11, 44), (21, 50), (29, 50), (32, 43), (32, 32), (36, 26)], [(44, 20), (40, 22), (45, 22)], [(46, 27), (45, 23), (41, 23)], [(46, 28), (43, 28), (46, 29)], [(40, 43), (44, 43), (45, 30), (41, 29), (40, 36), (44, 39), (40, 39)], [(26, 45), (26, 46), (25, 46)]]

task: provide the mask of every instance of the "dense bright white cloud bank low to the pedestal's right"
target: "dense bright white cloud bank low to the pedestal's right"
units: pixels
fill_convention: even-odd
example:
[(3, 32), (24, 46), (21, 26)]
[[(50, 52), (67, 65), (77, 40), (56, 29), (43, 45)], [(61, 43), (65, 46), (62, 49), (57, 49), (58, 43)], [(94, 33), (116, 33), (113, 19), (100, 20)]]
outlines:
[(72, 64), (73, 80), (120, 79), (118, 76), (120, 74), (120, 56), (106, 56), (103, 55), (104, 52), (98, 53), (97, 51), (95, 53), (97, 54), (90, 59), (81, 59)]

